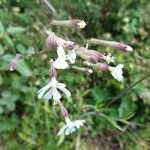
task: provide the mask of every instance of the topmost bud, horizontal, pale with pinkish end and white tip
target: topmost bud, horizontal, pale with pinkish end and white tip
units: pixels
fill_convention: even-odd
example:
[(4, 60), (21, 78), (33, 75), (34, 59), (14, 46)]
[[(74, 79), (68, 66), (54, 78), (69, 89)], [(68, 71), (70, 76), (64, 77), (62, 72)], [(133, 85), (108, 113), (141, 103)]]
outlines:
[(84, 28), (86, 23), (83, 20), (71, 19), (71, 20), (53, 20), (52, 25), (66, 26), (72, 28)]

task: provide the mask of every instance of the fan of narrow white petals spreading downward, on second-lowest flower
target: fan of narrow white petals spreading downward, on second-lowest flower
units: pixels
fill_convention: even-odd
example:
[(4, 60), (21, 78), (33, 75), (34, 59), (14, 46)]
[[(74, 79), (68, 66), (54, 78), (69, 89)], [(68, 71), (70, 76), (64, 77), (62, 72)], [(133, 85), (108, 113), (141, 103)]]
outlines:
[(55, 77), (44, 86), (42, 89), (38, 91), (38, 98), (44, 98), (45, 100), (54, 99), (54, 102), (58, 102), (61, 99), (61, 94), (57, 89), (61, 90), (67, 97), (71, 96), (70, 91), (68, 91), (64, 83), (58, 83)]

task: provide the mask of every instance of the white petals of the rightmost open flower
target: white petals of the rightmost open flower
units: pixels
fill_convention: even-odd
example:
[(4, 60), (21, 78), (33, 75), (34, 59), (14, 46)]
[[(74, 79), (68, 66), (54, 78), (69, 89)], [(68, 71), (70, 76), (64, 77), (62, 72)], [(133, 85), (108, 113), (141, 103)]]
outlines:
[(117, 79), (118, 81), (122, 81), (123, 80), (123, 71), (122, 71), (122, 68), (123, 68), (123, 64), (119, 64), (117, 65), (116, 67), (109, 67), (109, 70), (112, 74), (112, 76)]

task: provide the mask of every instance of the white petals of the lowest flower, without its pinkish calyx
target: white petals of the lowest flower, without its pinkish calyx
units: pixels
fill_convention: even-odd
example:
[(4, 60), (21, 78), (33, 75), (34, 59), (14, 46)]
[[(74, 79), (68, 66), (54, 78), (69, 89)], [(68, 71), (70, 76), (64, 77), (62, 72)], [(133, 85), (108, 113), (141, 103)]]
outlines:
[(60, 129), (57, 135), (62, 135), (63, 133), (65, 135), (69, 135), (73, 133), (76, 129), (79, 129), (81, 126), (83, 126), (83, 123), (85, 120), (76, 120), (76, 121), (71, 121), (69, 117), (65, 118), (66, 125)]

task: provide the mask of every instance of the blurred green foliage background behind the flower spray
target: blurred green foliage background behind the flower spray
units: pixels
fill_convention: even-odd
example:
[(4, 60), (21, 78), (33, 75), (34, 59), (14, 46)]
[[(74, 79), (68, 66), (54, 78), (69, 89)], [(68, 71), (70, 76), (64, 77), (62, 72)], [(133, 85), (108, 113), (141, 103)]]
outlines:
[[(90, 45), (90, 49), (111, 52), (115, 64), (125, 65), (124, 82), (103, 72), (87, 75), (73, 69), (59, 71), (59, 81), (72, 93), (62, 102), (72, 119), (85, 119), (86, 125), (70, 136), (57, 137), (63, 123), (59, 109), (51, 102), (46, 106), (36, 93), (49, 80), (48, 60), (53, 52), (38, 52), (46, 48), (43, 28), (50, 27), (52, 12), (38, 0), (0, 0), (0, 150), (148, 150), (150, 1), (50, 3), (56, 10), (55, 19), (77, 18), (87, 23), (83, 30), (51, 27), (61, 37), (83, 46), (95, 37), (134, 48), (123, 53)], [(24, 57), (17, 71), (10, 72), (8, 66), (16, 53)]]

